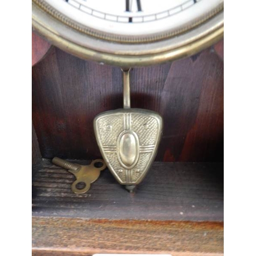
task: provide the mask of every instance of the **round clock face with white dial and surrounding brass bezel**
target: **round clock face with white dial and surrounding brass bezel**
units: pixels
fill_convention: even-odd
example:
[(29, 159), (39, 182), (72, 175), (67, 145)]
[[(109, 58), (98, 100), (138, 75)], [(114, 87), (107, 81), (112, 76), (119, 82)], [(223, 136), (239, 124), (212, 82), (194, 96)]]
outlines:
[(148, 65), (195, 53), (223, 33), (222, 0), (32, 2), (32, 25), (53, 44), (118, 66)]

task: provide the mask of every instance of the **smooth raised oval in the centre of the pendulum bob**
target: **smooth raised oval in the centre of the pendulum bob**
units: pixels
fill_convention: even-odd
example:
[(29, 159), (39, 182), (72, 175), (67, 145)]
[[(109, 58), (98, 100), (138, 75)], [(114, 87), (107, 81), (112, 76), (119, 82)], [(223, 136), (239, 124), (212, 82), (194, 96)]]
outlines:
[(131, 130), (123, 131), (118, 136), (117, 148), (117, 157), (120, 164), (127, 169), (133, 168), (139, 158), (138, 135)]

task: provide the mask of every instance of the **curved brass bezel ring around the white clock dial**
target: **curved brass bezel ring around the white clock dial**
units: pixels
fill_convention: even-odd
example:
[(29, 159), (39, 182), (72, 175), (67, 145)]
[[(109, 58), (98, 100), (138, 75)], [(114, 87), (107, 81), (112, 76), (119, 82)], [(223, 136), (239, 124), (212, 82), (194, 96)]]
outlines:
[[(48, 9), (49, 10), (48, 10)], [(48, 10), (48, 11), (47, 11)], [(155, 40), (124, 42), (99, 38), (63, 23), (44, 0), (32, 0), (32, 27), (53, 45), (77, 57), (120, 67), (147, 66), (193, 55), (223, 37), (223, 4), (197, 26)], [(148, 47), (150, 46), (150, 47)]]

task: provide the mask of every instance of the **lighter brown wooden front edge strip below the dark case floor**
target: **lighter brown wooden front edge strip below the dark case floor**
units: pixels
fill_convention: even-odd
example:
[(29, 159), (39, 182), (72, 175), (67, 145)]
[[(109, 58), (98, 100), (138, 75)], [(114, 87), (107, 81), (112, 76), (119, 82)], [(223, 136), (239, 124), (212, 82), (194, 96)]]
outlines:
[(223, 255), (223, 223), (32, 218), (33, 255)]

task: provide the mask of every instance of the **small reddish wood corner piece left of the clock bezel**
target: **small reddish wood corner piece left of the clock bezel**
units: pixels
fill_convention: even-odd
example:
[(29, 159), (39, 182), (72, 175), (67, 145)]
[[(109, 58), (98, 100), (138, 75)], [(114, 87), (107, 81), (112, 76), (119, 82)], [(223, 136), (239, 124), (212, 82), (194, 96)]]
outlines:
[(50, 48), (48, 41), (32, 32), (32, 67), (46, 56)]

